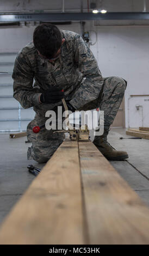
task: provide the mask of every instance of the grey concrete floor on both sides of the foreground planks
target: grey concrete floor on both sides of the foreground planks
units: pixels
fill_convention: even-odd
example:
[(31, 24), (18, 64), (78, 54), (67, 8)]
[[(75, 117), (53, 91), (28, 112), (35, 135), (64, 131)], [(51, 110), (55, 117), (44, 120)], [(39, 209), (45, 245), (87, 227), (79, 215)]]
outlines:
[[(149, 140), (121, 140), (120, 137), (131, 136), (125, 134), (125, 129), (111, 129), (108, 141), (115, 149), (126, 150), (129, 159), (110, 163), (149, 206)], [(35, 178), (28, 172), (28, 164), (40, 169), (44, 166), (27, 160), (27, 148), (31, 144), (25, 143), (26, 140), (26, 137), (9, 139), (8, 133), (0, 134), (0, 223)]]

